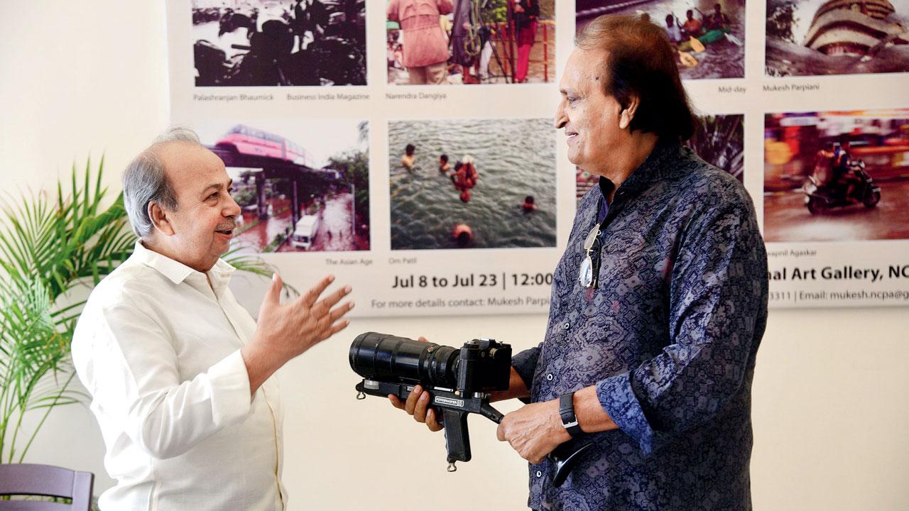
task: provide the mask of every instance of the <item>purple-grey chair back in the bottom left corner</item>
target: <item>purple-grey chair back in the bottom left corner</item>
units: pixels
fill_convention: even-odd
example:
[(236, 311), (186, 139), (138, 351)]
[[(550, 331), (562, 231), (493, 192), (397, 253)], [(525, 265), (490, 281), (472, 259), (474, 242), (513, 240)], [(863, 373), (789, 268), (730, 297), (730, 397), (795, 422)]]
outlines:
[(0, 511), (90, 511), (95, 475), (59, 466), (0, 465), (0, 496), (57, 496), (72, 504), (38, 500), (0, 500)]

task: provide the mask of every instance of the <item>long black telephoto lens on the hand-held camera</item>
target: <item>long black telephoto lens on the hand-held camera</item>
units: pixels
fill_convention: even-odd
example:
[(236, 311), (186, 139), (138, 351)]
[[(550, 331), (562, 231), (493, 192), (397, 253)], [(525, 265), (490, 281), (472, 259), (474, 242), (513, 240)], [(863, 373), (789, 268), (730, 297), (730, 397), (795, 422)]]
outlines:
[(460, 350), (407, 337), (366, 332), (350, 346), (350, 367), (369, 380), (454, 388)]

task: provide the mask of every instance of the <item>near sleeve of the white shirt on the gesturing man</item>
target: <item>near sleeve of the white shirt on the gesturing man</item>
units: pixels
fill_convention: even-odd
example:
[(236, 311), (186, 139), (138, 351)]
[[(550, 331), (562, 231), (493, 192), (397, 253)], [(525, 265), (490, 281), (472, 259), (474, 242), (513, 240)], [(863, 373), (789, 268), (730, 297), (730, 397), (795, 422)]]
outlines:
[(150, 456), (179, 456), (251, 409), (249, 375), (237, 350), (192, 380), (181, 381), (168, 334), (133, 306), (109, 306), (95, 328), (95, 404), (119, 416), (125, 433)]

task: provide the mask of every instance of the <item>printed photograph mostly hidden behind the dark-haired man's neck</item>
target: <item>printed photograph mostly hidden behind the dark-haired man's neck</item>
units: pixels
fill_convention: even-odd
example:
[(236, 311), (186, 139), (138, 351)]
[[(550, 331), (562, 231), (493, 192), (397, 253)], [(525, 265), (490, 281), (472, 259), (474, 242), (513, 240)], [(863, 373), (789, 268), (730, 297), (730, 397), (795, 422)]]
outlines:
[[(722, 168), (744, 183), (744, 115), (704, 115), (685, 141), (705, 162)], [(575, 167), (575, 200), (580, 203), (599, 178)]]

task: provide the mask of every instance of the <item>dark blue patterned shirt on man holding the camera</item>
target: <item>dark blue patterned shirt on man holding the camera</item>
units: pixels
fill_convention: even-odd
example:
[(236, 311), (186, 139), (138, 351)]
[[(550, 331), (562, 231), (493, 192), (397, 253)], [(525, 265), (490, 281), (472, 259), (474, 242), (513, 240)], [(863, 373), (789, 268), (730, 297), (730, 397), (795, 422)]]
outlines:
[(657, 145), (615, 192), (599, 288), (577, 280), (594, 187), (555, 269), (544, 342), (514, 356), (531, 401), (596, 386), (619, 429), (560, 488), (530, 466), (534, 509), (751, 508), (751, 383), (767, 316), (767, 260), (754, 205), (731, 175)]

